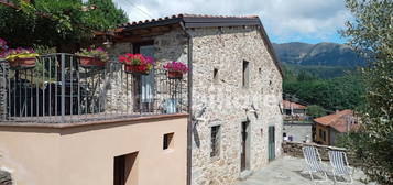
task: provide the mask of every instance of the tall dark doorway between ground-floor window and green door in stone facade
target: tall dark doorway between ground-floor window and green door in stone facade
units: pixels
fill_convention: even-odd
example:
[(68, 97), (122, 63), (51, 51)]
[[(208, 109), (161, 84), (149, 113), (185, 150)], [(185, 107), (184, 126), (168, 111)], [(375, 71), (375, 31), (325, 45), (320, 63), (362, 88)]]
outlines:
[(250, 168), (250, 121), (241, 122), (241, 172)]

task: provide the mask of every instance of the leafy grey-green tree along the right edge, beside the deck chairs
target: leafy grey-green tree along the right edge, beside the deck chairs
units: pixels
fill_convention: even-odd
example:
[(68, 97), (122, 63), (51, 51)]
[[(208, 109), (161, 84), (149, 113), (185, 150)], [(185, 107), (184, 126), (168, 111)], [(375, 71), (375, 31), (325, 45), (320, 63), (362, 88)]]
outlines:
[(359, 132), (348, 142), (362, 161), (363, 171), (380, 184), (393, 184), (393, 1), (346, 0), (354, 20), (343, 36), (367, 56), (363, 69), (367, 105)]

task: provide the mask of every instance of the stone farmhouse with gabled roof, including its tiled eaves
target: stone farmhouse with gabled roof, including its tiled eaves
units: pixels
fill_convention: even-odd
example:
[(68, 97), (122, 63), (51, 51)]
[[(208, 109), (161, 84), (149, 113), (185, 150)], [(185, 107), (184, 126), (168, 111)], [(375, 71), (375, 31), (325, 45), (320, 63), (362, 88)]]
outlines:
[(282, 70), (258, 17), (133, 22), (118, 30), (111, 51), (143, 47), (153, 51), (156, 66), (189, 66), (190, 184), (230, 185), (281, 154)]

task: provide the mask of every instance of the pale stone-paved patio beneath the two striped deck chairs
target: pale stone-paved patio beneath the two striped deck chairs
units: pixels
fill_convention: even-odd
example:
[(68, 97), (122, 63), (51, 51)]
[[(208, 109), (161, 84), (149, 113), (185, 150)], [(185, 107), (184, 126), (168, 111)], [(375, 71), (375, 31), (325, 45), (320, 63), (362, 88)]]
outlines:
[[(266, 167), (254, 172), (238, 185), (313, 185), (309, 175), (301, 173), (303, 166), (304, 159), (283, 156), (271, 162)], [(359, 182), (360, 178), (364, 178), (364, 174), (361, 171), (356, 170), (353, 178), (352, 185), (364, 185)], [(319, 184), (331, 185), (334, 184), (332, 177), (329, 175), (328, 182), (317, 183), (317, 185)]]

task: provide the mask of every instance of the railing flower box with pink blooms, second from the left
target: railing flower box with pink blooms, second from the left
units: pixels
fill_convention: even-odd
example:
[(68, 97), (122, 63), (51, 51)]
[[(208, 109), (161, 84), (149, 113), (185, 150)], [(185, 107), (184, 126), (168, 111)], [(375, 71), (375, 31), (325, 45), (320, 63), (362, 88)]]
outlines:
[(109, 61), (109, 55), (102, 47), (83, 48), (76, 55), (79, 57), (79, 65), (85, 68), (102, 68)]

